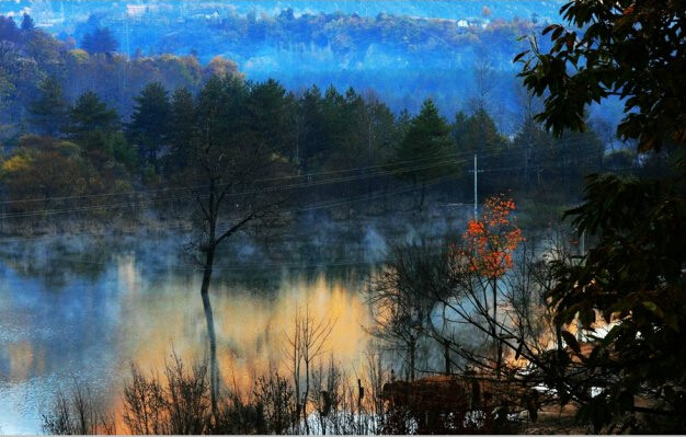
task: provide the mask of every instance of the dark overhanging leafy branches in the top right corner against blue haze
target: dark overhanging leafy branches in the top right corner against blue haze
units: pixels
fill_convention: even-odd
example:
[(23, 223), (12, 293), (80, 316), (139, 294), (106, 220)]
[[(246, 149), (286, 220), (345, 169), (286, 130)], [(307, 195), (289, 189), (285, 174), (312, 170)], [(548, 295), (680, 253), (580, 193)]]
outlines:
[[(625, 100), (617, 128), (638, 139), (640, 150), (659, 149), (665, 139), (686, 141), (686, 18), (683, 0), (572, 1), (561, 9), (561, 24), (548, 26), (549, 53), (533, 44), (521, 76), (537, 95), (549, 93), (537, 115), (547, 128), (586, 128), (584, 111), (609, 95)], [(579, 31), (582, 30), (582, 31)]]

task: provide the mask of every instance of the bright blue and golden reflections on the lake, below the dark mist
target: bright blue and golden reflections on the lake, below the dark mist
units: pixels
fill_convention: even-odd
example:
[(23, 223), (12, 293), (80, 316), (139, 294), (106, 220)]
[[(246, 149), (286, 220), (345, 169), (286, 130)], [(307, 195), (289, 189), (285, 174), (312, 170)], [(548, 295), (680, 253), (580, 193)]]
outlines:
[[(114, 248), (103, 243), (84, 256), (83, 248), (3, 246), (0, 432), (41, 432), (42, 409), (75, 381), (115, 407), (132, 360), (161, 369), (172, 348), (183, 358), (205, 356), (201, 278), (187, 261), (169, 256), (179, 248), (165, 241)], [(336, 321), (331, 353), (348, 368), (361, 365), (369, 322), (359, 294), (365, 278), (350, 271), (220, 271), (210, 296), (222, 379), (248, 390), (268, 368), (284, 375), (283, 338), (306, 304), (316, 318)]]

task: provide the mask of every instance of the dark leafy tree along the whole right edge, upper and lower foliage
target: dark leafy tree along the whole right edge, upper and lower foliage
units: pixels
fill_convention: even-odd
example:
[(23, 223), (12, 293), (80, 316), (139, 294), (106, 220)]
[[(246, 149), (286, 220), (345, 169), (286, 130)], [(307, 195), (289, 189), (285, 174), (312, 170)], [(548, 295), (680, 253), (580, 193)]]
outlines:
[[(586, 106), (619, 94), (626, 97), (621, 138), (637, 139), (642, 151), (666, 145), (683, 153), (685, 7), (652, 0), (562, 7), (583, 33), (549, 26), (550, 53), (534, 44), (521, 73), (537, 95), (549, 93), (537, 119), (558, 135), (583, 130)], [(568, 212), (597, 242), (580, 260), (556, 264), (548, 298), (557, 321), (578, 317), (585, 329), (598, 317), (614, 323), (606, 336), (592, 336), (591, 354), (572, 352), (585, 380), (561, 390), (581, 403), (580, 417), (596, 430), (639, 418), (651, 432), (686, 429), (686, 193), (684, 161), (672, 163), (659, 179), (591, 175), (584, 203)], [(591, 387), (602, 391), (591, 396)]]

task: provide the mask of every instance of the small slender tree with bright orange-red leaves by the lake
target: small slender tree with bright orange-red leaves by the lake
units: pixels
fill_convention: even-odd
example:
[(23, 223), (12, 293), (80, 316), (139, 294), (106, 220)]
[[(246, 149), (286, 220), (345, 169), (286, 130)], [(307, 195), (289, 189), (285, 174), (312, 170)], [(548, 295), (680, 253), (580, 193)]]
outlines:
[[(515, 225), (515, 204), (503, 195), (485, 200), (480, 218), (469, 220), (462, 233), (465, 242), (460, 258), (466, 267), (483, 278), (492, 291), (491, 334), (495, 341), (495, 371), (500, 376), (503, 346), (498, 332), (498, 279), (512, 268), (512, 254), (524, 241), (522, 230)], [(488, 311), (488, 310), (487, 310)]]

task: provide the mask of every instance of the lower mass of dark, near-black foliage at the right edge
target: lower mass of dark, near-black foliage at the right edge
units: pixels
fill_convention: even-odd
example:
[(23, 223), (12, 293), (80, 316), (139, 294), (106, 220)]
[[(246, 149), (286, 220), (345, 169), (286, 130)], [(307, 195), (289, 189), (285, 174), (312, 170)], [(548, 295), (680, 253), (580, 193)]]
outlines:
[[(579, 315), (614, 322), (593, 342), (584, 366), (597, 396), (581, 398), (583, 418), (596, 425), (642, 410), (659, 413), (660, 430), (686, 429), (686, 200), (671, 181), (591, 176), (585, 202), (569, 212), (599, 242), (583, 263), (557, 265), (550, 294), (557, 320)], [(639, 396), (639, 398), (634, 398)], [(656, 430), (656, 429), (655, 429)]]

